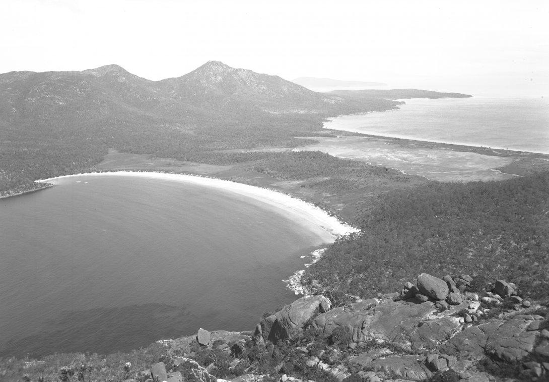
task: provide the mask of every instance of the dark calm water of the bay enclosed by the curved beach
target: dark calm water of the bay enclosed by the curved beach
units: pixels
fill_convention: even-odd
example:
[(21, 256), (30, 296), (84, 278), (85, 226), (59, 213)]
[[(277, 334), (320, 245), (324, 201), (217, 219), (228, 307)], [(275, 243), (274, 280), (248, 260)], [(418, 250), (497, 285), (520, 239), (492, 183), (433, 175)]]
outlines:
[(323, 242), (228, 191), (127, 177), (59, 182), (0, 201), (0, 356), (253, 330), (295, 299), (282, 279)]

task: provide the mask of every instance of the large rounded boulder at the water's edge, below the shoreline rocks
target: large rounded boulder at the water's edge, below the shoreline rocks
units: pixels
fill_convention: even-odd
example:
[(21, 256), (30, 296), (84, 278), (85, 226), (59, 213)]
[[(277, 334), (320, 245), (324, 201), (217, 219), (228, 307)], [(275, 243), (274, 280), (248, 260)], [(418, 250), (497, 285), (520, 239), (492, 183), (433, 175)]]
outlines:
[(318, 313), (329, 311), (331, 306), (330, 300), (322, 295), (301, 297), (262, 319), (256, 326), (254, 337), (259, 336), (272, 342), (293, 337), (308, 320)]

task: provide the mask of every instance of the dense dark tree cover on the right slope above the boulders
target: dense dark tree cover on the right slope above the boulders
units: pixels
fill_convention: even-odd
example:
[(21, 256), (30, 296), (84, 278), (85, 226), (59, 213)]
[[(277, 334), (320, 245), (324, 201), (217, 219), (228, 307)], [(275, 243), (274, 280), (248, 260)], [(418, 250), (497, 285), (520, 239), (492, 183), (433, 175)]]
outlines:
[[(549, 173), (395, 190), (358, 217), (304, 281), (350, 294), (394, 292), (414, 275), (469, 273), (549, 297)], [(322, 288), (321, 288), (322, 289)]]

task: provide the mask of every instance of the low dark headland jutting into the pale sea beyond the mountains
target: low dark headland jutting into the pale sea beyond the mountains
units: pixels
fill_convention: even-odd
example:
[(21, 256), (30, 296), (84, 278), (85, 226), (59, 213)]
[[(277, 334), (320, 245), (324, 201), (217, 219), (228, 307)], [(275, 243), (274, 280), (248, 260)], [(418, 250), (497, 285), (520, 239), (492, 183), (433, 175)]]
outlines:
[(421, 89), (365, 89), (365, 90), (334, 90), (327, 92), (329, 95), (338, 95), (354, 99), (404, 99), (404, 98), (467, 98), (473, 97), (462, 93), (440, 93)]

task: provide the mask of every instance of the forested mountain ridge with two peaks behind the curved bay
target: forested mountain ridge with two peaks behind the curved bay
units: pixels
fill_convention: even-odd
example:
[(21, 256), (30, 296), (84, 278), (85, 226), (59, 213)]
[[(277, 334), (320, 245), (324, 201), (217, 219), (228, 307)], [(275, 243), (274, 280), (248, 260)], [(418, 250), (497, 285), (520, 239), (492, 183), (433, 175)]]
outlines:
[(161, 81), (118, 65), (4, 73), (0, 192), (85, 171), (108, 148), (227, 163), (234, 158), (222, 150), (295, 146), (295, 135), (318, 130), (326, 117), (397, 104), (324, 95), (278, 76), (215, 61)]

